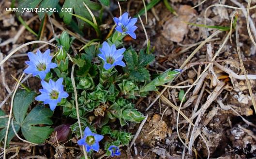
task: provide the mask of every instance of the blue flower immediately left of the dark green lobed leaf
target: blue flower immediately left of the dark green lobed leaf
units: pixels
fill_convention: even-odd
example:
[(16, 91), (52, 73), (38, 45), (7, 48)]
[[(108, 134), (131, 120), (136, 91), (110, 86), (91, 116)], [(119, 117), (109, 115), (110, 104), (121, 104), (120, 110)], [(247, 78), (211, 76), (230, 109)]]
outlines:
[(108, 70), (114, 66), (125, 66), (125, 63), (122, 61), (123, 53), (125, 52), (124, 48), (116, 49), (115, 44), (109, 46), (106, 41), (103, 42), (102, 48), (100, 48), (100, 54), (98, 56), (105, 61), (104, 68)]

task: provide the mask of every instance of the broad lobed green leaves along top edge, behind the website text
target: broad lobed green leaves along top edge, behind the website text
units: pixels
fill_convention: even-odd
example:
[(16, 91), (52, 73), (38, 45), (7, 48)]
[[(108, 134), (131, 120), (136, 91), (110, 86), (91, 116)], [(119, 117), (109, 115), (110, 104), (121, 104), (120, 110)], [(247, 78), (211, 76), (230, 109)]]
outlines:
[[(98, 0), (101, 4), (108, 6), (109, 0)], [(89, 11), (86, 9), (83, 3), (85, 3), (92, 11), (99, 11), (102, 8), (102, 5), (99, 2), (94, 2), (91, 0), (65, 0), (62, 6), (63, 12), (60, 11), (60, 7), (58, 6), (59, 0), (18, 0), (18, 9), (22, 11), (22, 8), (36, 8), (38, 6), (38, 10), (46, 9), (46, 8), (58, 8), (60, 17), (63, 18), (64, 23), (70, 24), (72, 21), (72, 15), (70, 13), (75, 12), (75, 14), (83, 16), (89, 20), (92, 20)], [(65, 12), (65, 9), (72, 8), (72, 11)], [(20, 12), (21, 13), (21, 12)], [(38, 12), (38, 16), (40, 19), (43, 19), (47, 13), (49, 16), (53, 14), (53, 12)], [(77, 18), (78, 27), (82, 29), (85, 25), (85, 22), (81, 19)]]

